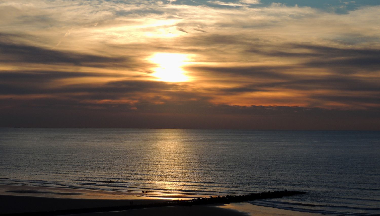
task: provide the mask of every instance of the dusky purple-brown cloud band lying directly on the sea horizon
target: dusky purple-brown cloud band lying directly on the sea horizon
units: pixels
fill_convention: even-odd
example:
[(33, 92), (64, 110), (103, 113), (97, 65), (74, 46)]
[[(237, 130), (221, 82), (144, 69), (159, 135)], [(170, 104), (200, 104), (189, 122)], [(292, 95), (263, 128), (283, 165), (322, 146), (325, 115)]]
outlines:
[[(1, 126), (203, 129), (372, 129), (379, 110), (187, 103), (89, 104), (59, 98), (5, 100)], [(13, 106), (12, 106), (13, 105)], [(16, 106), (16, 109), (14, 109)], [(135, 108), (135, 109), (133, 109)], [(97, 118), (93, 118), (96, 116)], [(51, 121), (54, 119), (54, 121)]]

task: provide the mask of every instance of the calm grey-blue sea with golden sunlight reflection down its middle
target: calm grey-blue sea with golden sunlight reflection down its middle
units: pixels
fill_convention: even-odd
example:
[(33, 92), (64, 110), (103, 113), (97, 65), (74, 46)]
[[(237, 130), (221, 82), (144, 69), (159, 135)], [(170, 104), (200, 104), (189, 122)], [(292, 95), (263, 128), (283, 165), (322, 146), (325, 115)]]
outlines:
[(379, 131), (0, 128), (0, 184), (234, 195), (332, 215), (380, 214)]

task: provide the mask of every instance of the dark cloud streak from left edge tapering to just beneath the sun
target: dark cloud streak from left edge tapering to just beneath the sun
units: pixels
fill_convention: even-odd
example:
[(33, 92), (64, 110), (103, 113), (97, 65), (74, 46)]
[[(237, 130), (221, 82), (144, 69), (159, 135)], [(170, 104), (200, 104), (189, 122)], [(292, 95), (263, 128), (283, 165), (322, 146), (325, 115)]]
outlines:
[[(2, 81), (0, 82), (3, 94), (56, 94), (56, 93), (91, 93), (115, 95), (120, 97), (128, 93), (157, 93), (160, 91), (171, 90), (176, 87), (175, 84), (142, 81), (142, 80), (121, 80), (106, 82), (104, 84), (71, 84), (61, 87), (59, 85), (50, 85), (50, 87), (41, 86), (41, 82), (53, 82), (57, 79), (78, 78), (78, 77), (104, 77), (99, 73), (78, 73), (78, 72), (54, 72), (44, 71), (36, 73), (0, 73)], [(120, 75), (119, 75), (120, 77)], [(30, 82), (32, 81), (32, 82)], [(34, 82), (33, 82), (34, 81)], [(20, 85), (9, 84), (17, 82)]]

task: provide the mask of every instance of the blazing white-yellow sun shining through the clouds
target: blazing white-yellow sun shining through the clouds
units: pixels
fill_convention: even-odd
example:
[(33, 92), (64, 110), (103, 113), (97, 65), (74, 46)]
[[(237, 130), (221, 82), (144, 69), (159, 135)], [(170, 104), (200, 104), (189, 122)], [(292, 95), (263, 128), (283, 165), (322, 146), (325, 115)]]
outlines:
[(155, 76), (160, 81), (164, 82), (187, 82), (190, 80), (189, 76), (185, 75), (184, 65), (189, 64), (189, 55), (178, 53), (156, 53), (149, 59), (158, 67), (154, 68), (155, 71), (152, 76)]

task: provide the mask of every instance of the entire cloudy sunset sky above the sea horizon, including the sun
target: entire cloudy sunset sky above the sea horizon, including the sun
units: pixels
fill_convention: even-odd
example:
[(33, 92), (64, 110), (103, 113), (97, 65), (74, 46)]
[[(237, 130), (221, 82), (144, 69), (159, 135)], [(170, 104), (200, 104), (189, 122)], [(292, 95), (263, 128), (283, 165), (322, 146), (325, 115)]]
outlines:
[(380, 130), (378, 0), (0, 0), (0, 127)]

